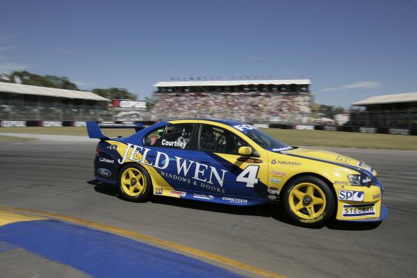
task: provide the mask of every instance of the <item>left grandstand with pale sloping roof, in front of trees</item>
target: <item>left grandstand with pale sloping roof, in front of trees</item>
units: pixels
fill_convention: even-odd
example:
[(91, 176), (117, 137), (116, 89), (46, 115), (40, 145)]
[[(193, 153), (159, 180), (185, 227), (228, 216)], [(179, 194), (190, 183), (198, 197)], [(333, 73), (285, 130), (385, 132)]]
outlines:
[(111, 120), (109, 101), (92, 92), (0, 82), (0, 120)]

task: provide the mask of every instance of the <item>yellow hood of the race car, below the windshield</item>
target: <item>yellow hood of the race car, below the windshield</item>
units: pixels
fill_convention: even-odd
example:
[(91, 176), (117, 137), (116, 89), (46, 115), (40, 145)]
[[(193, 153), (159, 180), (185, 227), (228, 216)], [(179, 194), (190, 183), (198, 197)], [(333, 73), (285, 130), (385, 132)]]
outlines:
[[(274, 151), (272, 150), (272, 152)], [(350, 156), (344, 156), (336, 152), (323, 151), (320, 149), (306, 149), (306, 148), (294, 147), (293, 149), (283, 150), (283, 151), (279, 151), (275, 153), (285, 154), (288, 156), (295, 156), (295, 157), (300, 157), (300, 158), (307, 158), (307, 159), (312, 159), (315, 161), (322, 161), (322, 162), (331, 163), (334, 165), (341, 165), (344, 167), (348, 167), (352, 170), (357, 170), (359, 172), (363, 172), (364, 170), (368, 172), (368, 174), (372, 174), (373, 176), (377, 174), (377, 172), (372, 167), (370, 167), (363, 161), (358, 161), (355, 158), (352, 158)]]

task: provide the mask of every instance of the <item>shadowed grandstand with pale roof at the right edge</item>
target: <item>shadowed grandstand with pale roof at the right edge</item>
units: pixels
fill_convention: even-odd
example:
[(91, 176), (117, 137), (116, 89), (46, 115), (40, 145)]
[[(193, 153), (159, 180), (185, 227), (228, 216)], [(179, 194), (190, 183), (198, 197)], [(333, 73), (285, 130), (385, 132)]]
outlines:
[(350, 125), (410, 129), (417, 127), (417, 92), (380, 95), (358, 101)]

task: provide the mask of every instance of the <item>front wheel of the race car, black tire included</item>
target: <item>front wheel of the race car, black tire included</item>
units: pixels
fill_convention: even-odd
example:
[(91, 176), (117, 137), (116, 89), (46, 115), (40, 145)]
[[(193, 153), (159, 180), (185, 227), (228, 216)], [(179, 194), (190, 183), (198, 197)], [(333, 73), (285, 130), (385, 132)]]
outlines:
[(298, 177), (286, 186), (283, 205), (290, 218), (300, 226), (322, 227), (334, 214), (332, 189), (317, 177)]

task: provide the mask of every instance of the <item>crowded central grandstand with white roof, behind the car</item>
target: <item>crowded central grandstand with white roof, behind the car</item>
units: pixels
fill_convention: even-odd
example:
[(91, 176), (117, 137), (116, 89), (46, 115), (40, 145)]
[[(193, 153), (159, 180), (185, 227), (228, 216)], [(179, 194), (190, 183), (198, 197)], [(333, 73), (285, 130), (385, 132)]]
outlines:
[(243, 122), (310, 121), (310, 79), (166, 81), (154, 84), (152, 120), (228, 118)]

